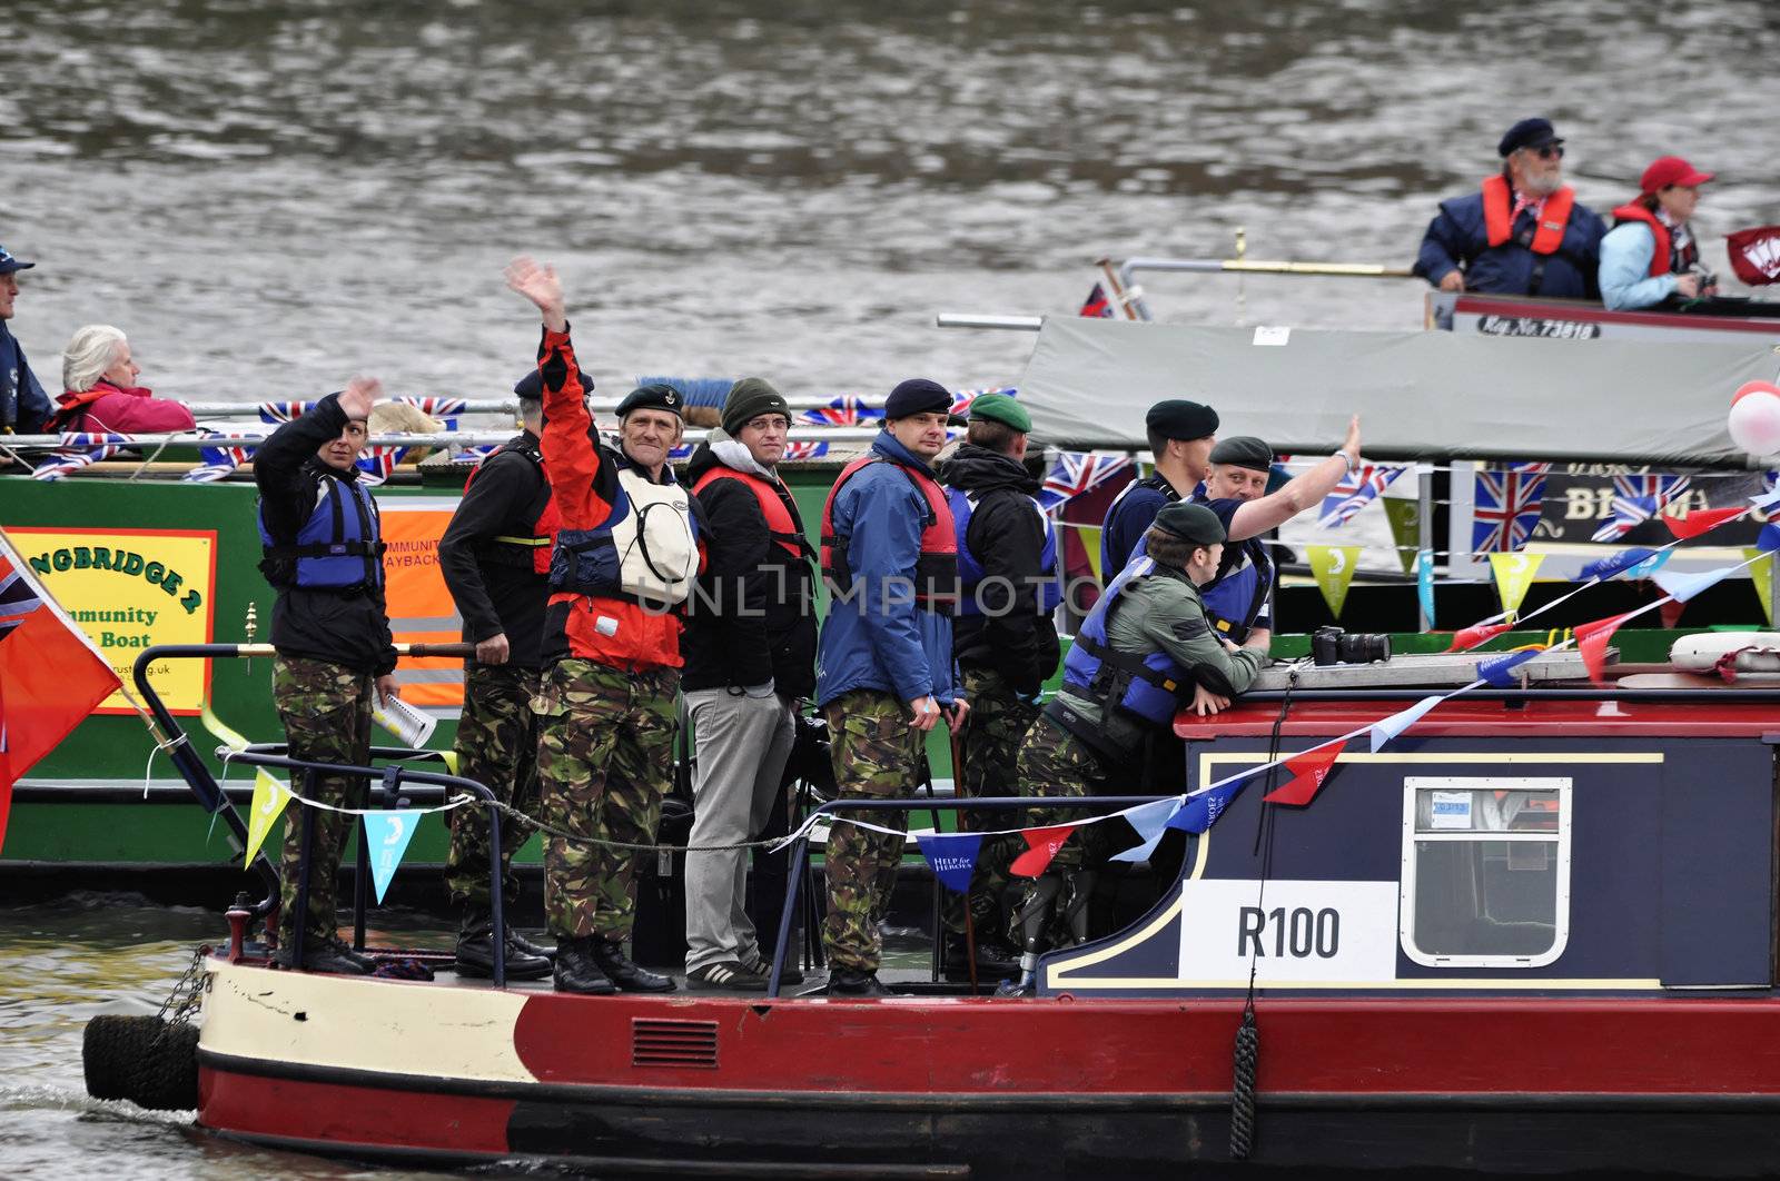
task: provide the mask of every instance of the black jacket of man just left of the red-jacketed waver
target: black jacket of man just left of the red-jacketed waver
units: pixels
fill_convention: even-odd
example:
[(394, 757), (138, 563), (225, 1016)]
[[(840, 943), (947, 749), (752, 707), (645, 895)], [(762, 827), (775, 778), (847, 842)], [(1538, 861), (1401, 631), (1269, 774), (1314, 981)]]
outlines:
[(530, 537), (548, 503), (538, 436), (525, 432), (482, 461), (440, 537), (440, 571), (463, 615), (463, 639), (504, 633), (507, 663), (522, 669), (543, 667), (550, 576), (536, 571), (532, 551), (495, 539)]

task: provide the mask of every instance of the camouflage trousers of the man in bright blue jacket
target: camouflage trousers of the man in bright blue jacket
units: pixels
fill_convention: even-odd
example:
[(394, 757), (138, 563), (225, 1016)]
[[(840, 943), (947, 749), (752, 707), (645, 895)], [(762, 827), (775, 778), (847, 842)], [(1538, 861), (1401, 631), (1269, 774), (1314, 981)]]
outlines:
[[(899, 799), (915, 795), (926, 735), (910, 720), (908, 706), (892, 694), (853, 690), (824, 706), (829, 758), (840, 799)], [(883, 952), (878, 923), (890, 909), (897, 868), (902, 864), (902, 832), (908, 815), (892, 811), (856, 813), (867, 823), (894, 832), (874, 832), (837, 823), (828, 832), (828, 918), (822, 946), (829, 964), (854, 971), (878, 971)]]

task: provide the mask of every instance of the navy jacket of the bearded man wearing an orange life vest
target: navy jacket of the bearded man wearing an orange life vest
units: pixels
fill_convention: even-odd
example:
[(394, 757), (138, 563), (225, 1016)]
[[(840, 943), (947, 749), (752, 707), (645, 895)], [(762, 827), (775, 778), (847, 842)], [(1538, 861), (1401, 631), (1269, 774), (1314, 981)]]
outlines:
[[(1438, 285), (1449, 270), (1465, 263), (1465, 290), (1499, 295), (1540, 295), (1545, 299), (1597, 299), (1595, 274), (1600, 269), (1600, 238), (1607, 224), (1582, 203), (1570, 208), (1570, 224), (1556, 254), (1534, 254), (1518, 244), (1533, 213), (1515, 219), (1515, 237), (1490, 245), (1483, 224), (1483, 194), (1472, 192), (1440, 203), (1440, 213), (1428, 222), (1415, 274)], [(1545, 276), (1533, 288), (1533, 270), (1543, 261)]]

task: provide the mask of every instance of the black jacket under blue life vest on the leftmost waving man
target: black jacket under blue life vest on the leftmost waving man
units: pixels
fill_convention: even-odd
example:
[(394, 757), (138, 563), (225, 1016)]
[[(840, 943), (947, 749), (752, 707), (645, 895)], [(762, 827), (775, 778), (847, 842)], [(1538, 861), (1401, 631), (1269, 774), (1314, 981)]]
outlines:
[[(358, 468), (335, 471), (315, 452), (345, 430), (340, 398), (328, 395), (295, 422), (287, 422), (260, 445), (253, 480), (260, 486), (260, 519), (276, 544), (294, 544), (315, 512), (322, 480), (352, 482)], [(262, 562), (262, 569), (265, 564)], [(395, 669), (383, 587), (360, 590), (304, 590), (279, 585), (272, 605), (272, 647), (285, 656), (328, 660), (383, 676)]]

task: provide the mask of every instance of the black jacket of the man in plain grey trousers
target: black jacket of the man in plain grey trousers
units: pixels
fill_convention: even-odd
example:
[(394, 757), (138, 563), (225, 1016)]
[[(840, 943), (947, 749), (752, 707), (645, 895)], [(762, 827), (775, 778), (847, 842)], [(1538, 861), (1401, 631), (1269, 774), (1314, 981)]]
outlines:
[[(687, 484), (721, 466), (708, 443), (687, 462)], [(780, 502), (803, 534), (790, 489)], [(773, 541), (760, 500), (740, 480), (714, 480), (703, 505), (705, 573), (685, 605), (680, 687), (730, 688), (773, 679), (783, 697), (815, 692), (815, 573)]]

